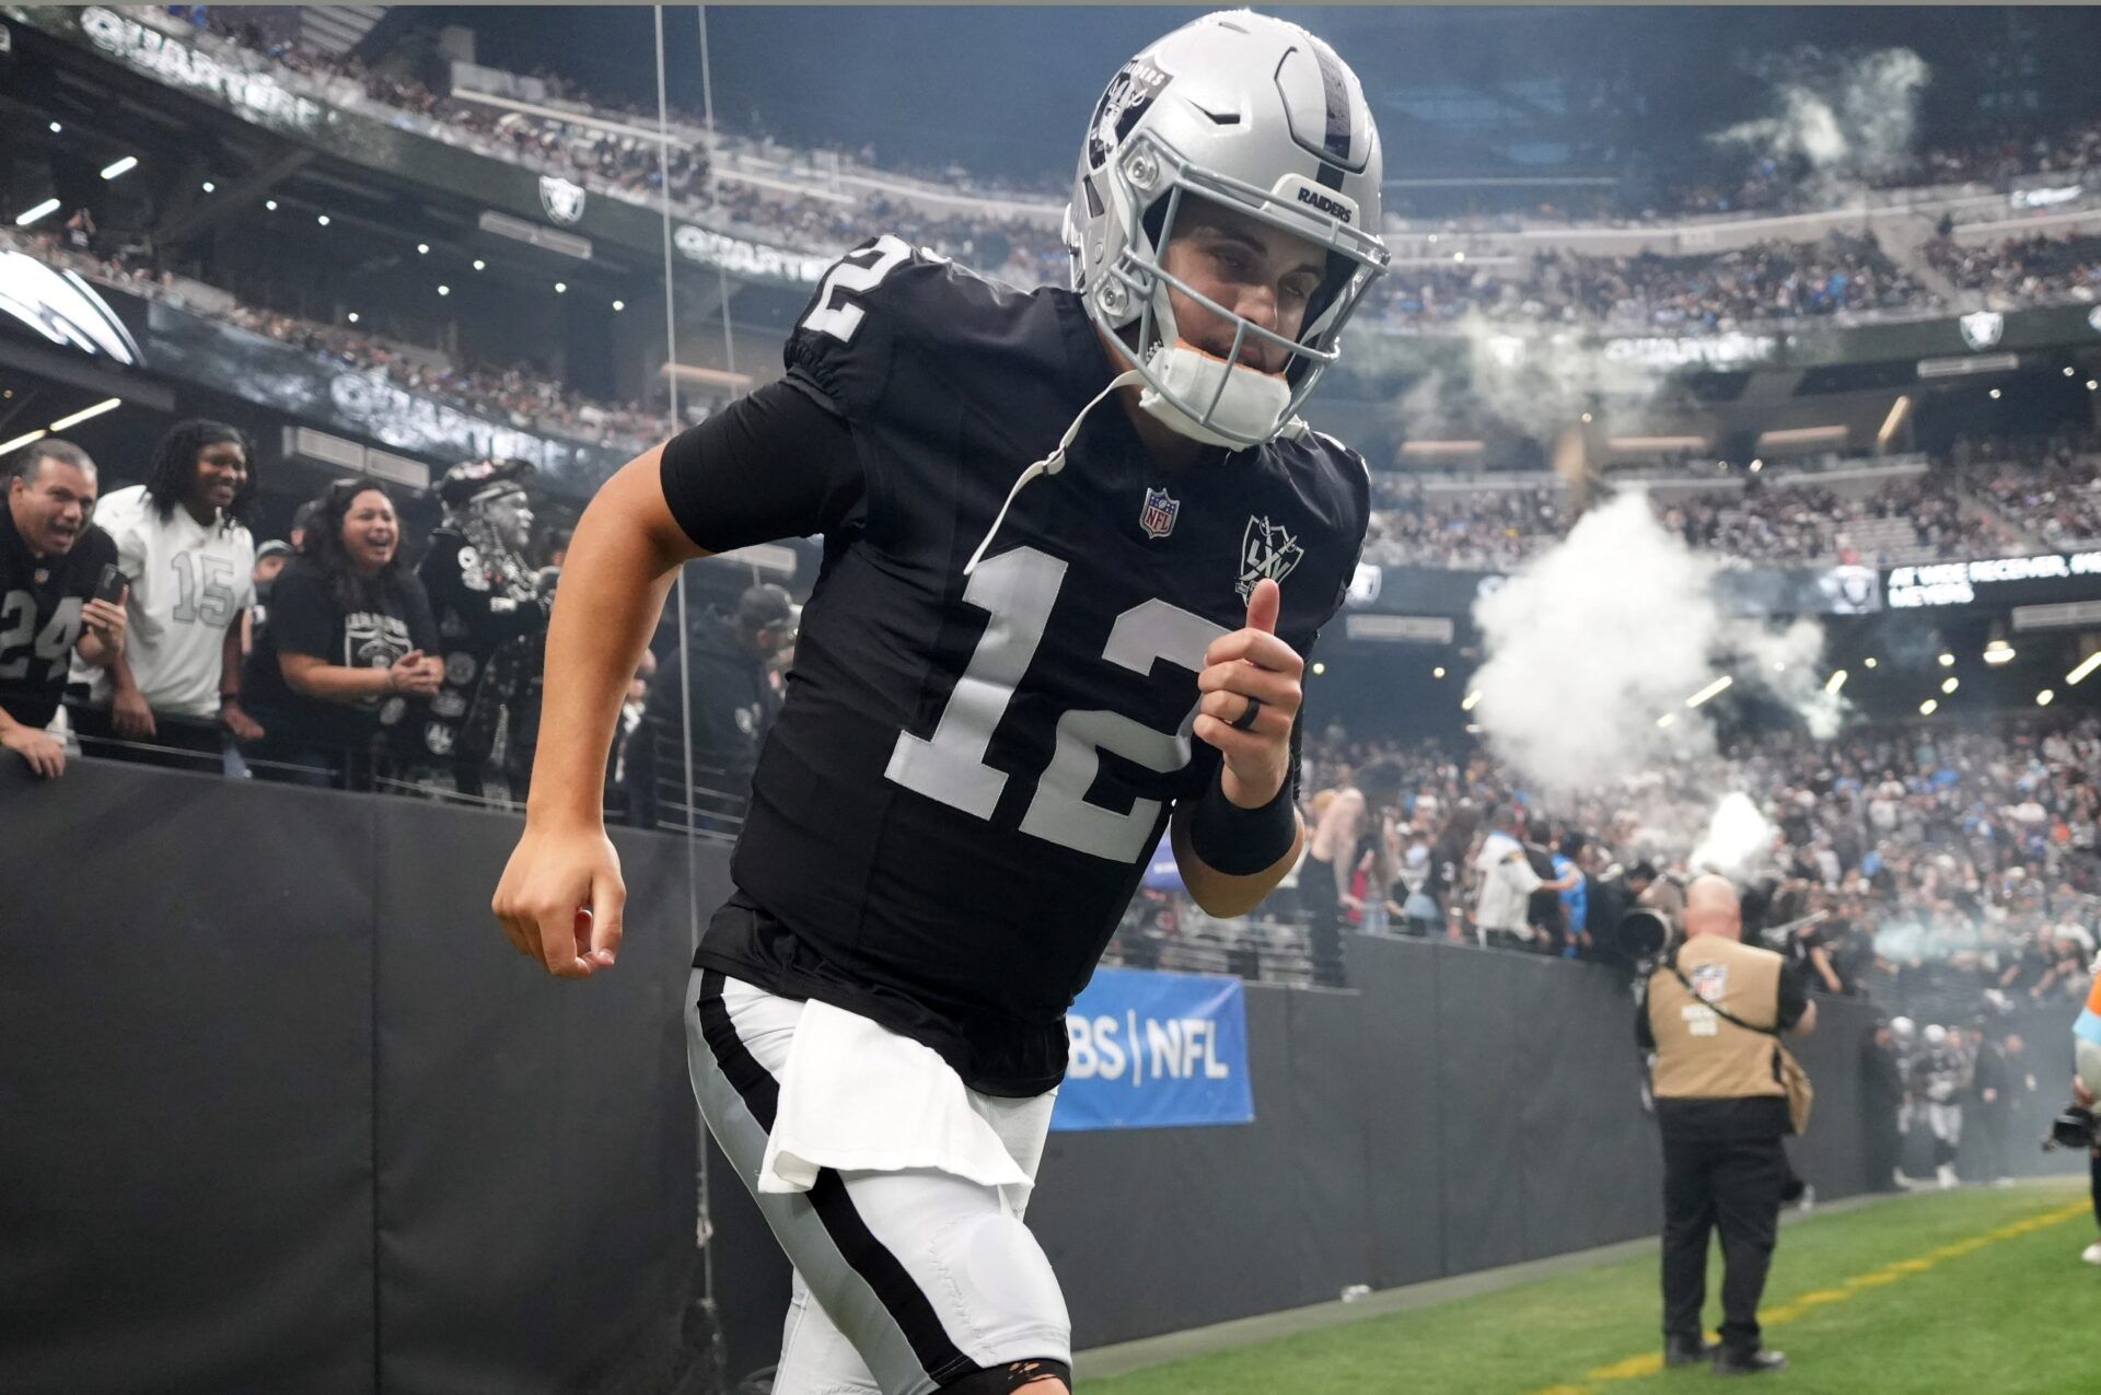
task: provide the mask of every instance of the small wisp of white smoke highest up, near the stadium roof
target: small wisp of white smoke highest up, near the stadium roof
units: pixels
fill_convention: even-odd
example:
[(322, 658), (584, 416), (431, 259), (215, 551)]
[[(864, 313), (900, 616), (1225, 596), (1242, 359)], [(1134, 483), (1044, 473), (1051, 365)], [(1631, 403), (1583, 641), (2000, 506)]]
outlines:
[(1805, 48), (1771, 59), (1759, 74), (1773, 82), (1773, 111), (1708, 137), (1742, 145), (1777, 164), (1809, 164), (1809, 193), (1843, 197), (1870, 181), (1901, 174), (1912, 164), (1918, 92), (1933, 71), (1910, 48), (1826, 57)]

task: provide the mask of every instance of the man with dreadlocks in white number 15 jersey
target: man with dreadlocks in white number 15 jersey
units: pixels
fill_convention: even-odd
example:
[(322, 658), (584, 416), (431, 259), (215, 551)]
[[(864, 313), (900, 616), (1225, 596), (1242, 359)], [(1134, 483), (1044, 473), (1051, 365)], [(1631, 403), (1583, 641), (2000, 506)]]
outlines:
[[(95, 523), (130, 578), (130, 639), (107, 668), (74, 658), (88, 689), (78, 714), (90, 748), (132, 761), (221, 769), (225, 737), (254, 742), (242, 710), (242, 611), (256, 603), (256, 475), (248, 437), (210, 420), (176, 422), (153, 450), (143, 485), (113, 490)], [(191, 754), (166, 754), (166, 752)]]

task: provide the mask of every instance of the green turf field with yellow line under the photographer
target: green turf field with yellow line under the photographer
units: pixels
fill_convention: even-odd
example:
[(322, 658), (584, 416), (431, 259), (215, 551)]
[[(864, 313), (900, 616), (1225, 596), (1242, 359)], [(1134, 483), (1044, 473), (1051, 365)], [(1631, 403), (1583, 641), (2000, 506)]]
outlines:
[[(1782, 1229), (1767, 1345), (1792, 1370), (1752, 1389), (1796, 1395), (2101, 1391), (2101, 1269), (2080, 1183), (1964, 1187), (1805, 1216)], [(1708, 1324), (1719, 1313), (1708, 1282)], [(1523, 1288), (1387, 1313), (1088, 1380), (1084, 1395), (1298, 1391), (1637, 1395), (1708, 1389), (1662, 1370), (1656, 1254)], [(1733, 1389), (1735, 1382), (1731, 1382)]]

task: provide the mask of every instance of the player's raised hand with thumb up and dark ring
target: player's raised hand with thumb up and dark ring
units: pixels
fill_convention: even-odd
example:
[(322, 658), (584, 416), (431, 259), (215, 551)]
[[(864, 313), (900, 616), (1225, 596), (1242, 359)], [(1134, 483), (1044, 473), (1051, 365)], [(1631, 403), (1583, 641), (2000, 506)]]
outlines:
[(1277, 796), (1292, 769), (1292, 723), (1298, 719), (1305, 660), (1277, 639), (1284, 595), (1271, 580), (1254, 584), (1248, 624), (1204, 651), (1198, 674), (1195, 735), (1225, 756), (1221, 788), (1242, 809)]

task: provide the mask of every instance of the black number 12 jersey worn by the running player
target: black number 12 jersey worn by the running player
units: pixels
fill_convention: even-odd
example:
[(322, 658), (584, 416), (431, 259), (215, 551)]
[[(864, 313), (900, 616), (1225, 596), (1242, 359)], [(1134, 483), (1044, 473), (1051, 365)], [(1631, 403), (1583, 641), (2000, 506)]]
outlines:
[[(1265, 576), (1277, 634), (1311, 649), (1355, 571), (1366, 466), (1307, 435), (1166, 471), (1109, 399), (964, 578), (1116, 372), (1080, 298), (880, 237), (786, 361), (845, 429), (824, 487), (771, 477), (813, 500), (826, 555), (698, 962), (874, 1017), (975, 1088), (1046, 1090), (1170, 807), (1216, 786), (1191, 735), (1204, 649)], [(698, 456), (666, 450), (681, 523), (754, 540), (710, 534)]]

